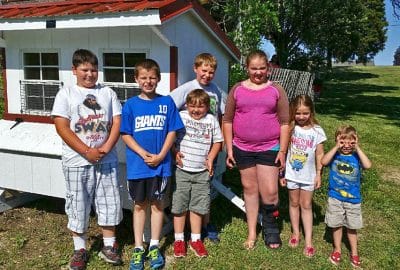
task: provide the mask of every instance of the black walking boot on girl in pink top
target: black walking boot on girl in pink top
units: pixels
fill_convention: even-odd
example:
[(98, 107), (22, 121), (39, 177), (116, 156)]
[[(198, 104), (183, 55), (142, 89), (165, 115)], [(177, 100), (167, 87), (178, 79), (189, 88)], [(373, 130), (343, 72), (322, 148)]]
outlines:
[[(280, 248), (282, 246), (282, 240), (277, 223), (277, 218), (279, 216), (278, 206), (274, 204), (262, 205), (261, 214), (265, 245), (271, 249)], [(272, 248), (271, 245), (274, 244), (278, 244), (279, 246)]]

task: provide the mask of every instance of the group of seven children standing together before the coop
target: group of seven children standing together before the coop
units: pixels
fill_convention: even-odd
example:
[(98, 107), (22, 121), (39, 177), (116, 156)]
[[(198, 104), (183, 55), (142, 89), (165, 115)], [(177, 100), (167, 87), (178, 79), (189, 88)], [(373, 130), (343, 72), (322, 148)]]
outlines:
[[(265, 244), (270, 248), (281, 246), (275, 220), (280, 171), (281, 176), (285, 172), (280, 183), (289, 190), (292, 223), (289, 245), (296, 247), (300, 242), (301, 216), (304, 254), (312, 257), (315, 254), (312, 194), (321, 186), (322, 167), (330, 166), (326, 214), (326, 223), (333, 228), (334, 239), (330, 260), (334, 264), (340, 262), (342, 227), (345, 226), (351, 246), (351, 263), (360, 266), (356, 234), (362, 226), (360, 174), (362, 168), (371, 166), (371, 162), (359, 147), (357, 133), (350, 126), (338, 129), (336, 146), (324, 155), (322, 143), (326, 136), (315, 119), (311, 99), (303, 95), (297, 97), (290, 104), (289, 115), (283, 89), (267, 80), (268, 60), (263, 52), (257, 51), (248, 57), (249, 80), (230, 92), (227, 108), (224, 93), (211, 82), (217, 62), (208, 53), (195, 59), (196, 79), (178, 87), (170, 96), (156, 93), (161, 78), (157, 62), (151, 59), (140, 61), (135, 66), (134, 76), (141, 92), (128, 99), (123, 108), (114, 91), (97, 83), (96, 55), (88, 50), (77, 50), (72, 64), (77, 83), (59, 91), (52, 111), (56, 130), (63, 140), (65, 209), (74, 242), (69, 269), (86, 267), (86, 232), (92, 203), (103, 232), (104, 247), (99, 256), (111, 264), (122, 264), (115, 237), (115, 226), (122, 220), (121, 185), (114, 147), (120, 135), (126, 144), (128, 190), (134, 201), (135, 247), (129, 269), (144, 269), (146, 257), (152, 269), (165, 264), (159, 241), (172, 177), (175, 179), (171, 207), (174, 256), (186, 256), (184, 230), (187, 220), (191, 229), (188, 247), (198, 257), (208, 255), (201, 232), (209, 222), (210, 178), (214, 175), (215, 161), (224, 141), (227, 166), (237, 165), (245, 202), (252, 206), (252, 209), (246, 206), (247, 249), (255, 247), (260, 195)], [(255, 98), (264, 97), (262, 95), (266, 102)], [(253, 101), (256, 103), (251, 103)], [(251, 107), (254, 119), (246, 119), (248, 115), (240, 110), (250, 108), (249, 105), (254, 106)], [(257, 106), (267, 106), (267, 116), (261, 115), (265, 113), (264, 109), (258, 110)], [(223, 119), (223, 136), (220, 125), (224, 112), (227, 117)], [(267, 130), (260, 125), (259, 120), (264, 119), (271, 121)], [(252, 120), (258, 121), (255, 123), (258, 130), (244, 130), (246, 121)], [(268, 135), (268, 141), (262, 141), (265, 137), (262, 133), (271, 130), (273, 135)], [(246, 141), (246, 138), (255, 141)], [(146, 252), (143, 231), (147, 208), (151, 209), (151, 240)], [(214, 235), (215, 238), (218, 240)]]

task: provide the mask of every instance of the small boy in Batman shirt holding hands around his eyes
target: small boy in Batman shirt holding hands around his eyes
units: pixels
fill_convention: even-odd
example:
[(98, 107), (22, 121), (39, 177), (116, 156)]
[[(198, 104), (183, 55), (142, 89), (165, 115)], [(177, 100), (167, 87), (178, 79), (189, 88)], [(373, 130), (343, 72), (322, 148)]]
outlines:
[(360, 179), (362, 169), (371, 168), (371, 161), (361, 150), (354, 127), (345, 125), (335, 133), (336, 145), (325, 154), (321, 163), (330, 166), (328, 207), (325, 223), (332, 228), (333, 252), (329, 259), (341, 261), (343, 226), (350, 244), (350, 262), (360, 267), (357, 250), (357, 229), (362, 228)]

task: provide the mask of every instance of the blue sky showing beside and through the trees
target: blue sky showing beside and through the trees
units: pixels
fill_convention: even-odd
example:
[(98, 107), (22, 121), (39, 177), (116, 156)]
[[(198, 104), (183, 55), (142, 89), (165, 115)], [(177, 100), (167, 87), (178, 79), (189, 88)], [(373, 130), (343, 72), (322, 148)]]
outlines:
[[(393, 16), (393, 7), (390, 0), (385, 0), (386, 20), (388, 21), (387, 40), (385, 49), (375, 56), (375, 65), (386, 66), (393, 65), (393, 55), (398, 47), (400, 47), (400, 20)], [(275, 54), (274, 46), (266, 41), (262, 45), (263, 50), (271, 57)]]

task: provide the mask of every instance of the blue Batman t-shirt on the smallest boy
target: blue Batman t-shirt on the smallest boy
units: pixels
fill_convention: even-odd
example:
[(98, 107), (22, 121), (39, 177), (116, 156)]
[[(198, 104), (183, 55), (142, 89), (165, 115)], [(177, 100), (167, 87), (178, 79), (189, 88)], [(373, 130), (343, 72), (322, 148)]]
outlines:
[(357, 153), (336, 153), (330, 164), (328, 195), (343, 202), (360, 203), (361, 163)]

